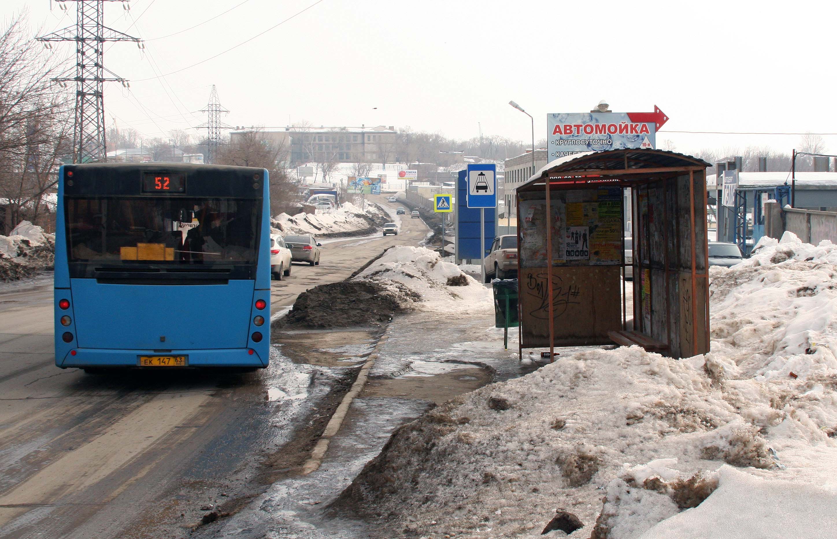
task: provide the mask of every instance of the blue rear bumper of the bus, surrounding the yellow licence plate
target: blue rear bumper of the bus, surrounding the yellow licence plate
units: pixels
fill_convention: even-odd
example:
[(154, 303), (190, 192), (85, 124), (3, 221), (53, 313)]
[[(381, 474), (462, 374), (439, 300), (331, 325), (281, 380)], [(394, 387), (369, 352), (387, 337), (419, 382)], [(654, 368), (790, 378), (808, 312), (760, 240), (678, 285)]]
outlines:
[[(153, 352), (151, 350), (110, 350), (101, 348), (74, 348), (63, 358), (55, 358), (55, 364), (68, 367), (139, 367), (140, 356), (186, 356), (187, 367), (267, 367), (269, 358), (261, 358), (259, 352), (250, 348), (225, 348), (215, 350), (172, 350)], [(72, 354), (75, 352), (75, 355)], [(157, 367), (139, 367), (157, 368)], [(167, 367), (160, 367), (167, 368)]]

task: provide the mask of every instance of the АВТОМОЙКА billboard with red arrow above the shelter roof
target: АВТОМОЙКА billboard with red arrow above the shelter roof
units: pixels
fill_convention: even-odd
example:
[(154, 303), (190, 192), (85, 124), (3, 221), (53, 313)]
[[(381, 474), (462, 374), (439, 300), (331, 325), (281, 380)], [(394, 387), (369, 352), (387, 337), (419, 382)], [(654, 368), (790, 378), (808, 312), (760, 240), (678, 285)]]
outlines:
[(582, 151), (656, 147), (656, 132), (668, 121), (654, 112), (561, 112), (547, 114), (547, 161)]

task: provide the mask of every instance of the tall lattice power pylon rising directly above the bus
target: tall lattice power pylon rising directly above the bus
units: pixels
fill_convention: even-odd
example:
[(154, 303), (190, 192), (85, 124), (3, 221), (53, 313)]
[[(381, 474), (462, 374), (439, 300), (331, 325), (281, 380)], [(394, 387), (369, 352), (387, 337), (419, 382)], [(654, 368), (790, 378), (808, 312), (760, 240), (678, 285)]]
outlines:
[(142, 49), (139, 38), (105, 26), (105, 2), (121, 2), (128, 10), (128, 0), (55, 0), (66, 10), (74, 2), (77, 12), (74, 27), (67, 27), (38, 38), (48, 49), (54, 41), (75, 42), (75, 76), (58, 77), (55, 82), (66, 87), (75, 82), (75, 122), (73, 128), (73, 162), (105, 161), (105, 94), (104, 83), (128, 81), (105, 69), (105, 42), (133, 41)]

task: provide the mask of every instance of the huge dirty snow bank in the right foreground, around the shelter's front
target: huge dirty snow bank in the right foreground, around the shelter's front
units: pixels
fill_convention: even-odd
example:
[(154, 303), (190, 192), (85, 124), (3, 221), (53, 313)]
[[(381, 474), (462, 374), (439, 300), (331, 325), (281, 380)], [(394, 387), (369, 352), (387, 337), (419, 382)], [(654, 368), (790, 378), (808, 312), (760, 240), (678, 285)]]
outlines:
[(773, 539), (791, 521), (828, 536), (834, 257), (764, 240), (711, 271), (706, 357), (580, 352), (455, 398), (399, 429), (333, 510), (391, 536)]

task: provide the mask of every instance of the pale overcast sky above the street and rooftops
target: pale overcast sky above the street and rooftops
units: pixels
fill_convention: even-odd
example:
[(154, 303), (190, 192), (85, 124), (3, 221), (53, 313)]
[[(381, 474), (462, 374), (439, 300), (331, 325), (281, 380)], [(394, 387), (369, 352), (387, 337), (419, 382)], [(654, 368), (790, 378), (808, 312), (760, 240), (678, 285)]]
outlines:
[[(0, 9), (8, 21), (28, 8), (33, 31), (74, 25), (74, 3), (67, 3), (68, 12), (56, 3), (50, 11), (49, 4), (5, 0)], [(484, 134), (528, 141), (529, 118), (509, 100), (535, 117), (540, 139), (547, 113), (588, 111), (605, 99), (618, 112), (659, 105), (670, 116), (663, 131), (831, 133), (837, 132), (830, 102), (837, 78), (830, 62), (835, 6), (825, 0), (133, 0), (125, 11), (109, 2), (105, 24), (147, 41), (145, 50), (131, 43), (105, 49), (105, 66), (131, 80), (130, 90), (105, 86), (106, 118), (148, 138), (165, 137), (205, 121), (198, 110), (217, 85), (230, 110), (223, 121), (231, 126), (410, 126), (470, 138), (481, 125)], [(54, 54), (73, 50), (56, 44)], [(764, 145), (789, 152), (800, 136), (665, 132), (658, 147), (665, 139), (685, 152)], [(837, 136), (824, 141), (837, 152)]]

